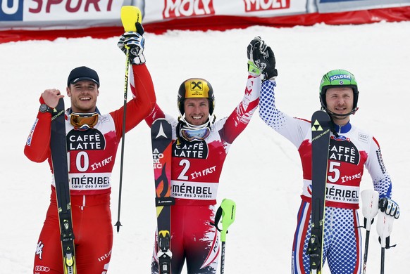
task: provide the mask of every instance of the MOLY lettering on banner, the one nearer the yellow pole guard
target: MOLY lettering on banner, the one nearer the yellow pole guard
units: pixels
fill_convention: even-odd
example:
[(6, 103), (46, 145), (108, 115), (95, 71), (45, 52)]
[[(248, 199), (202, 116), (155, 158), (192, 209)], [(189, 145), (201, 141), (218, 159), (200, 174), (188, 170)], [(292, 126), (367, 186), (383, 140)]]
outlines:
[(164, 0), (163, 18), (215, 14), (213, 0)]

